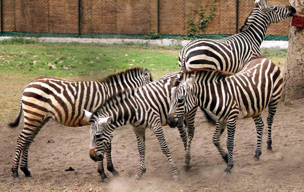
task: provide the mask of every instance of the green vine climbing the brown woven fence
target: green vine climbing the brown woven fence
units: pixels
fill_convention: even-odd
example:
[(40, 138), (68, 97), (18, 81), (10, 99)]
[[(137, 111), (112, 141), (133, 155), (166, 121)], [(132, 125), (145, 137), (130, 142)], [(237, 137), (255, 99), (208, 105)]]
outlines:
[[(205, 17), (205, 10), (201, 7), (200, 11), (194, 10), (192, 12), (192, 15), (189, 14), (188, 18), (188, 34), (184, 37), (184, 39), (198, 39), (200, 35), (197, 33), (200, 31), (206, 31), (206, 28), (208, 27), (209, 22), (212, 20), (213, 16), (215, 15), (216, 11), (216, 2), (217, 0), (214, 0), (211, 5), (211, 12), (210, 14)], [(197, 18), (197, 14), (199, 14), (199, 23), (195, 24), (195, 18)]]

